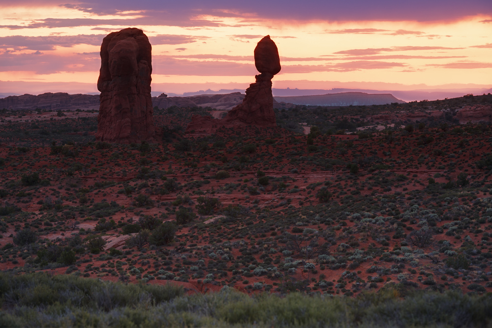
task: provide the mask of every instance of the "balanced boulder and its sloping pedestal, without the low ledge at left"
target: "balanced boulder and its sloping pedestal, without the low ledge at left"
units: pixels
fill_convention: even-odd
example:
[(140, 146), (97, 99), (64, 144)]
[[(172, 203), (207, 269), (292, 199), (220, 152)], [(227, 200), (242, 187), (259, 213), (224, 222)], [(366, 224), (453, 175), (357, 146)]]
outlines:
[(256, 82), (246, 89), (243, 103), (234, 107), (224, 119), (226, 122), (241, 121), (263, 127), (276, 126), (272, 96), (272, 78), (280, 72), (277, 46), (270, 35), (258, 42), (254, 49), (254, 65), (261, 74)]

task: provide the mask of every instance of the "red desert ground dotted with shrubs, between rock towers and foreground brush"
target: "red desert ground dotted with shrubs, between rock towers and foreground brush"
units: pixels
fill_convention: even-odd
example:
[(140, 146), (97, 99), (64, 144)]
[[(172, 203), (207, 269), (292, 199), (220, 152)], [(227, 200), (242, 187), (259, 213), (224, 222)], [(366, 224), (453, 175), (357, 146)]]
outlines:
[(0, 269), (188, 293), (492, 292), (491, 104), (296, 106), (214, 135), (184, 130), (220, 111), (174, 106), (154, 110), (159, 143), (129, 145), (94, 141), (96, 111), (3, 110)]

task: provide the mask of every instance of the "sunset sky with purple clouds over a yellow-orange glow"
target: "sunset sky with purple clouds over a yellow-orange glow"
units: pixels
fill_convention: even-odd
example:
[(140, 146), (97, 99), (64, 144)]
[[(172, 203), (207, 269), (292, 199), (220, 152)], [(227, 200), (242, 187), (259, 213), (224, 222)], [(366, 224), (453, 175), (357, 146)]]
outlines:
[(0, 93), (97, 92), (102, 39), (127, 27), (153, 91), (246, 89), (265, 35), (274, 88), (492, 88), (491, 0), (0, 0)]

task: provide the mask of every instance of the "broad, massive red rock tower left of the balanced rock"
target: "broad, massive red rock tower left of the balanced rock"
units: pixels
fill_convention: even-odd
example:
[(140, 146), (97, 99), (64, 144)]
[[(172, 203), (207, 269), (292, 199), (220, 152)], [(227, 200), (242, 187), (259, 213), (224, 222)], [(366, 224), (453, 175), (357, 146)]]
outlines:
[(101, 45), (101, 91), (96, 140), (154, 141), (152, 46), (142, 30), (109, 33)]

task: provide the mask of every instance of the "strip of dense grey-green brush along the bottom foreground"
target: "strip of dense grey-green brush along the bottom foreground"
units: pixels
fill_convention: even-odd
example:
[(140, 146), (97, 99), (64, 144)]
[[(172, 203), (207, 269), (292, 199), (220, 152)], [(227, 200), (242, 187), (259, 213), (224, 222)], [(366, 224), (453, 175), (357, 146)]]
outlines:
[(0, 273), (1, 327), (486, 327), (490, 295), (417, 292), (402, 284), (356, 298), (253, 297), (224, 287), (185, 296), (173, 285), (124, 285), (73, 275)]

